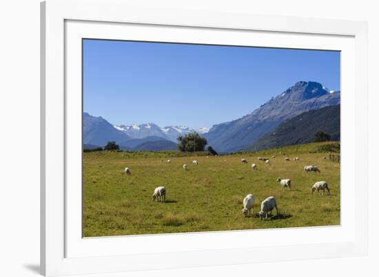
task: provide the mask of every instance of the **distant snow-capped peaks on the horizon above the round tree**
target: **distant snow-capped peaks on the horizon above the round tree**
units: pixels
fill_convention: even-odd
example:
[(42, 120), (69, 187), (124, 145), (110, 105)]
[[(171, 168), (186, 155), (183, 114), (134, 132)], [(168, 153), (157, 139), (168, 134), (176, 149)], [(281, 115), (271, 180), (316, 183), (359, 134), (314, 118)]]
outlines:
[(132, 125), (114, 125), (114, 128), (127, 134), (132, 139), (142, 139), (144, 137), (163, 137), (166, 140), (177, 142), (177, 138), (187, 133), (197, 132), (204, 134), (209, 129), (203, 127), (201, 129), (193, 129), (187, 126), (165, 126), (161, 128), (154, 123), (132, 124)]

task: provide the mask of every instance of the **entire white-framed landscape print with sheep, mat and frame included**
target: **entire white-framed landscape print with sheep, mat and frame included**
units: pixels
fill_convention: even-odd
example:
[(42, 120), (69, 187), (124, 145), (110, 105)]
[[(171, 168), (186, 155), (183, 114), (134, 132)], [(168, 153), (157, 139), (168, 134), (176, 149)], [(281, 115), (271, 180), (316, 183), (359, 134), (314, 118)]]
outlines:
[(367, 254), (367, 23), (41, 3), (45, 276)]

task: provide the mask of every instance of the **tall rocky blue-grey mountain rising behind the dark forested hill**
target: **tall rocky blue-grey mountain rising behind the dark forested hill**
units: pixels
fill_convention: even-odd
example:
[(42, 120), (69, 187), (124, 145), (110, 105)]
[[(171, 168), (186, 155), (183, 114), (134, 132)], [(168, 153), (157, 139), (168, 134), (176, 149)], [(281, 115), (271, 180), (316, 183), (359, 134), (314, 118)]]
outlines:
[(340, 104), (340, 91), (329, 91), (318, 82), (300, 81), (243, 118), (212, 126), (204, 136), (220, 153), (240, 151), (284, 120), (337, 104)]

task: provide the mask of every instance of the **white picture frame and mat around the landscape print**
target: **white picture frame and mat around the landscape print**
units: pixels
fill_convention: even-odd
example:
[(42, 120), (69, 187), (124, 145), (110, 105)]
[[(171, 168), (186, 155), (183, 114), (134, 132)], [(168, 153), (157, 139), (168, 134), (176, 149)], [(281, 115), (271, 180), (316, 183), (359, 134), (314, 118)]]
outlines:
[[(340, 50), (341, 225), (83, 239), (80, 42), (88, 37)], [(42, 274), (366, 255), (367, 95), (365, 22), (137, 8), (116, 0), (41, 3)], [(274, 239), (280, 237), (286, 240)], [(165, 247), (149, 247), (154, 243)]]

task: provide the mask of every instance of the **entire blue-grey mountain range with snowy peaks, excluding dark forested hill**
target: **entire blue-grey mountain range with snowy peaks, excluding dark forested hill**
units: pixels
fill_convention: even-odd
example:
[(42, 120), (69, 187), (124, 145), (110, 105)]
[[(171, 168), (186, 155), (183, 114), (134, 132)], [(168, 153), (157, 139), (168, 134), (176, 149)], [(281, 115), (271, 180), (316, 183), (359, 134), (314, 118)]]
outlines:
[(107, 142), (114, 141), (124, 149), (165, 151), (176, 148), (178, 136), (195, 131), (206, 137), (208, 145), (218, 153), (230, 153), (247, 148), (256, 149), (260, 145), (263, 147), (266, 142), (254, 143), (260, 137), (274, 131), (285, 120), (307, 111), (339, 104), (340, 91), (329, 91), (318, 82), (300, 81), (252, 113), (230, 122), (215, 124), (211, 129), (192, 129), (188, 126), (160, 127), (154, 123), (114, 125), (101, 117), (84, 113), (83, 143), (104, 146)]

